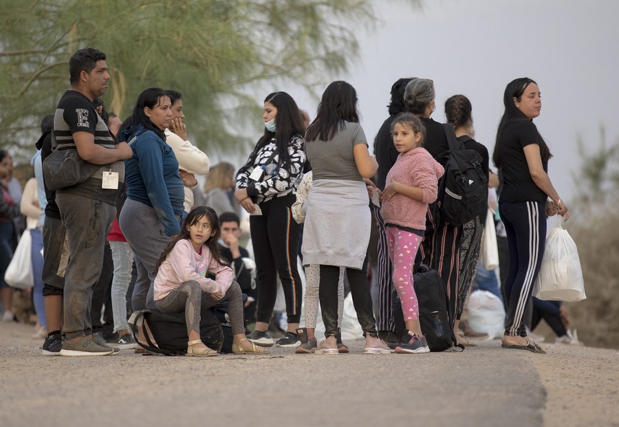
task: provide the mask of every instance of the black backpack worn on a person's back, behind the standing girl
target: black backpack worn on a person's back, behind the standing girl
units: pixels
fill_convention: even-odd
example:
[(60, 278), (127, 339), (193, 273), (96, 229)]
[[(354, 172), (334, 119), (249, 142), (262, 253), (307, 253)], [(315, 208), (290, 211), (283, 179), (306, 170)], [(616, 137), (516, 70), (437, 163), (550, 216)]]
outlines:
[(488, 209), (488, 177), (481, 166), (481, 156), (475, 150), (467, 150), (459, 142), (451, 124), (443, 124), (449, 150), (438, 157), (445, 168), (439, 180), (438, 216), (441, 223), (454, 226), (485, 215)]

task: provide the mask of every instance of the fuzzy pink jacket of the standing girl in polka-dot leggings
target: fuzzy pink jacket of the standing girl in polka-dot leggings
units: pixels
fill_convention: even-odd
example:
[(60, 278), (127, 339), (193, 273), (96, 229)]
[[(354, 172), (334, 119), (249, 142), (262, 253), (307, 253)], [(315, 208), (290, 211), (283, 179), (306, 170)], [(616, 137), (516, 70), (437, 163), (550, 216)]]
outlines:
[(421, 188), (424, 197), (419, 201), (396, 193), (388, 201), (383, 201), (380, 213), (384, 223), (425, 230), (426, 210), (428, 204), (436, 200), (438, 179), (443, 173), (443, 166), (422, 147), (398, 155), (398, 160), (387, 173), (385, 186), (393, 179), (400, 184)]

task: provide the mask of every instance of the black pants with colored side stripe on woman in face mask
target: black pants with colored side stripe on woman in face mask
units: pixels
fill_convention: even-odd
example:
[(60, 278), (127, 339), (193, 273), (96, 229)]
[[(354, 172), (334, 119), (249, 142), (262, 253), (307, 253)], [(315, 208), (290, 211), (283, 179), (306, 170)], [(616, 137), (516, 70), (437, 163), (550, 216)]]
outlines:
[(262, 215), (250, 217), (258, 279), (258, 322), (271, 320), (278, 274), (286, 301), (287, 322), (301, 320), (303, 286), (296, 267), (299, 225), (290, 212), (295, 200), (294, 195), (286, 195), (264, 201), (260, 204)]

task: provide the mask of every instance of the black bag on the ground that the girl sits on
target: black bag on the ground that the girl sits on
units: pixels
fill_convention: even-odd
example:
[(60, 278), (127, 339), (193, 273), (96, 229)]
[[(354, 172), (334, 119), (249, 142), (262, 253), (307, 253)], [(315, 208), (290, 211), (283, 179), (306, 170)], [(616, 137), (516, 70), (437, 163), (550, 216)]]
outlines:
[[(155, 342), (149, 337), (144, 322), (148, 324)], [(173, 314), (163, 314), (157, 309), (135, 311), (129, 319), (129, 324), (135, 342), (138, 342), (138, 328), (142, 328), (146, 342), (138, 342), (140, 347), (165, 355), (187, 353), (188, 336), (184, 311)], [(200, 338), (206, 347), (221, 351), (221, 345), (224, 343), (221, 322), (208, 308), (200, 311)]]

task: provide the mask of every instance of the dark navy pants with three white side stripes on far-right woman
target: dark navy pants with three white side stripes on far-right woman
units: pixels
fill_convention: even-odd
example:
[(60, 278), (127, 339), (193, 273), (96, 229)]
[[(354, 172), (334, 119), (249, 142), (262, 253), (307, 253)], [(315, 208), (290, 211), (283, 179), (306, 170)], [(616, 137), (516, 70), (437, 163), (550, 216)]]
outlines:
[(538, 201), (499, 203), (510, 267), (505, 283), (508, 320), (505, 335), (526, 336), (523, 315), (531, 299), (546, 242), (546, 212)]

